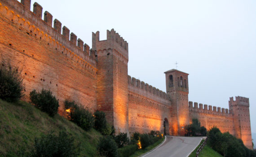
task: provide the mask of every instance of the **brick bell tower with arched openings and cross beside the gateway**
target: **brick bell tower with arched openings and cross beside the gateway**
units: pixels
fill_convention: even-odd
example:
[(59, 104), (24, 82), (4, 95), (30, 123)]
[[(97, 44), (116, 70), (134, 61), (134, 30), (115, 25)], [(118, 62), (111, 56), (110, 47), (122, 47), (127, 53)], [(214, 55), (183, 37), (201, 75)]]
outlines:
[(184, 135), (184, 127), (189, 124), (189, 74), (176, 69), (168, 70), (164, 73), (166, 79), (166, 93), (170, 96), (172, 101), (172, 135)]

